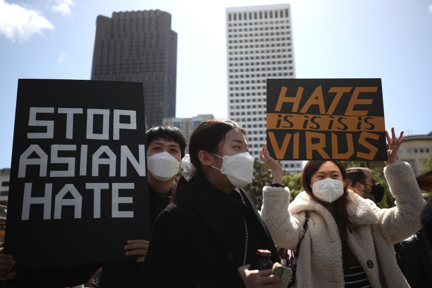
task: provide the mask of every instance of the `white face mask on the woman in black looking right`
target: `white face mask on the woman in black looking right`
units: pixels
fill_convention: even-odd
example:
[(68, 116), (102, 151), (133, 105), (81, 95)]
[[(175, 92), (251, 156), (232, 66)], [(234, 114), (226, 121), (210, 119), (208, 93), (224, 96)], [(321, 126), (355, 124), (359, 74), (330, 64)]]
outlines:
[(255, 159), (248, 152), (232, 156), (225, 155), (223, 157), (216, 154), (213, 155), (222, 158), (222, 167), (221, 169), (214, 166), (211, 167), (218, 169), (222, 174), (226, 175), (234, 187), (243, 188), (247, 184), (252, 183)]

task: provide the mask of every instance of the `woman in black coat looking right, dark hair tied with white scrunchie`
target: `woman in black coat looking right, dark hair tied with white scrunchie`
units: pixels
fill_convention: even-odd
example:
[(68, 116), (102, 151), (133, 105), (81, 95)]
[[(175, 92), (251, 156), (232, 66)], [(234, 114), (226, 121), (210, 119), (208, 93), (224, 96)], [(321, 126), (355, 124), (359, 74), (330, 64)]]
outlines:
[(254, 202), (242, 189), (252, 182), (254, 158), (236, 122), (201, 123), (182, 160), (173, 204), (157, 218), (143, 264), (152, 287), (277, 287), (271, 269), (250, 269), (257, 249), (275, 245)]

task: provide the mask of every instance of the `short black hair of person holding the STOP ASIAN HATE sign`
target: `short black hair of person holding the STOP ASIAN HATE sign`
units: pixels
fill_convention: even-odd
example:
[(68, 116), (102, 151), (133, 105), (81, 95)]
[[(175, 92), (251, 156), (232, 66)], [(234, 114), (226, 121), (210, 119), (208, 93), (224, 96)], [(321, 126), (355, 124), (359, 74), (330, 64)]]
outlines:
[(186, 137), (183, 132), (177, 127), (171, 125), (153, 126), (146, 132), (146, 144), (149, 147), (150, 143), (157, 139), (165, 139), (174, 141), (180, 146), (182, 158), (185, 156)]

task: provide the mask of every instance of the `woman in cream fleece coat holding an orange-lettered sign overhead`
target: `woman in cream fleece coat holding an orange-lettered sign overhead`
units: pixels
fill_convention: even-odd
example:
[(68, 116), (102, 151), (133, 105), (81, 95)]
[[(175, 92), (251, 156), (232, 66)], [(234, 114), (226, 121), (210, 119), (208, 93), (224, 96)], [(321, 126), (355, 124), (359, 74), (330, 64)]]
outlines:
[[(396, 163), (403, 132), (397, 138), (392, 129), (392, 137), (387, 132), (386, 136), (384, 174), (395, 207), (380, 209), (347, 189), (345, 167), (339, 161), (309, 161), (301, 177), (305, 191), (291, 204), (287, 187), (264, 187), (261, 217), (276, 245), (294, 250), (303, 235), (305, 215), (309, 216), (295, 287), (409, 287), (393, 244), (420, 229), (425, 202), (409, 164)], [(273, 184), (281, 184), (276, 175), (282, 168), (265, 145), (261, 159), (277, 171)]]

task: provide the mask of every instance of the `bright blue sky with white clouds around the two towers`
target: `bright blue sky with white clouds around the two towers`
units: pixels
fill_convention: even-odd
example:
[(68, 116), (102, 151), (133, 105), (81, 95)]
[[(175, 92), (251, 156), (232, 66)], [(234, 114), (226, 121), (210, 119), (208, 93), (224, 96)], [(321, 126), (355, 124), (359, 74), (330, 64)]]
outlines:
[(171, 13), (176, 116), (226, 118), (225, 8), (280, 3), (291, 4), (297, 78), (382, 78), (387, 129), (432, 132), (432, 0), (0, 0), (0, 168), (18, 79), (90, 79), (98, 15)]

